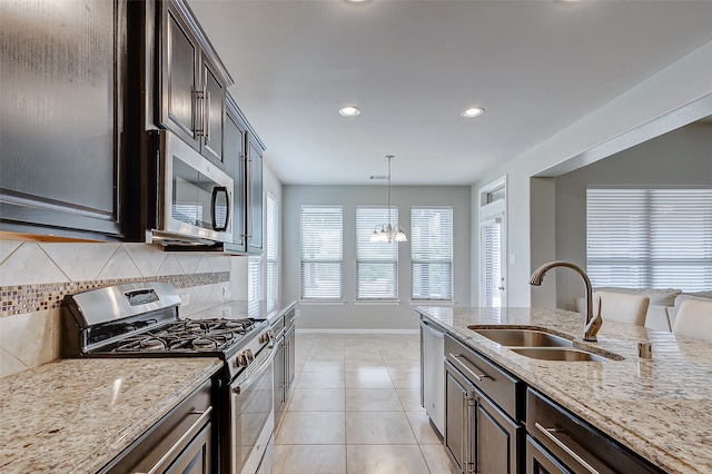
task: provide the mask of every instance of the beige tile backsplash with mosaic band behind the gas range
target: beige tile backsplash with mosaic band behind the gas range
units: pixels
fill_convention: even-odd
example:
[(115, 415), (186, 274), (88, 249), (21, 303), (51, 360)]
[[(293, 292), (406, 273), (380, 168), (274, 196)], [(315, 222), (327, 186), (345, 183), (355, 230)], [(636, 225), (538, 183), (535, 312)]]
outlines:
[(180, 307), (187, 316), (230, 300), (231, 275), (245, 270), (240, 257), (167, 253), (149, 244), (0, 239), (0, 376), (59, 357), (60, 305), (67, 294), (169, 282), (189, 302)]

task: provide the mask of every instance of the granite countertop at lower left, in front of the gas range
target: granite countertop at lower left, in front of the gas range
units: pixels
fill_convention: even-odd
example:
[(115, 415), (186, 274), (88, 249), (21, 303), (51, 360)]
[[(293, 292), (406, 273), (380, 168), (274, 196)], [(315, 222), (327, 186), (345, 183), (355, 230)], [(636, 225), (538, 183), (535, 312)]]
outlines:
[(85, 358), (0, 378), (0, 472), (95, 473), (221, 367), (217, 357)]

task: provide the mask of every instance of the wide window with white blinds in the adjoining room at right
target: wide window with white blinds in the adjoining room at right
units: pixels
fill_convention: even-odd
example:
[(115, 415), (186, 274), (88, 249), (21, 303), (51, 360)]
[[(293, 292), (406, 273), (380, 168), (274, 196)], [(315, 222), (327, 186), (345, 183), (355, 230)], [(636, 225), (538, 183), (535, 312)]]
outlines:
[(712, 189), (589, 189), (594, 286), (712, 287)]

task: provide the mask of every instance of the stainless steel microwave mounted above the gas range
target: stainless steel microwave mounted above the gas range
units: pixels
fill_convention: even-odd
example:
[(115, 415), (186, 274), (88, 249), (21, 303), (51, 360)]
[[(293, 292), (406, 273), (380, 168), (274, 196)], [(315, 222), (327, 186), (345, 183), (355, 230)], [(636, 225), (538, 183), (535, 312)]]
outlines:
[(168, 130), (160, 132), (158, 228), (164, 245), (233, 241), (233, 178)]

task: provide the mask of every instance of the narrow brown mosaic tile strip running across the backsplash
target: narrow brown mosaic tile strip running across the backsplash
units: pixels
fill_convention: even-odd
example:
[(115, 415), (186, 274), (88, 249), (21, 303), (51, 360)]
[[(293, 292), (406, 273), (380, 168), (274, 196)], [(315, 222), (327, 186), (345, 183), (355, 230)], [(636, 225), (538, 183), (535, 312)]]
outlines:
[(137, 278), (113, 278), (93, 282), (46, 283), (37, 285), (14, 285), (0, 287), (0, 317), (56, 309), (61, 305), (65, 295), (112, 285), (141, 282), (172, 283), (176, 288), (227, 283), (229, 271), (216, 271), (190, 275), (165, 275)]

